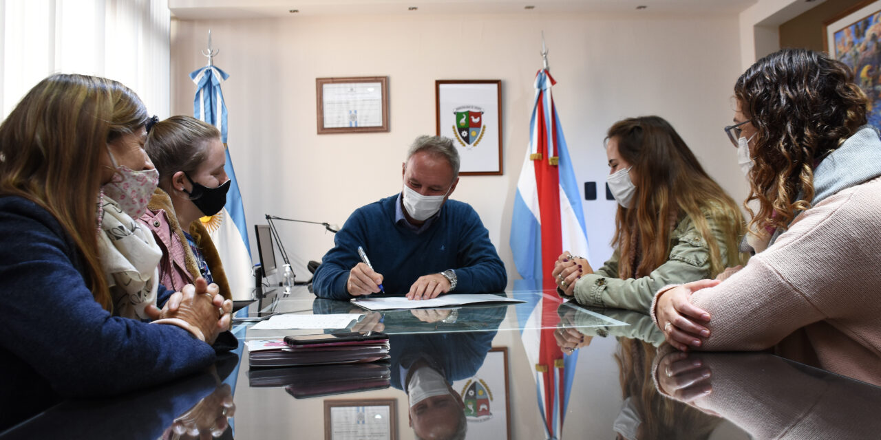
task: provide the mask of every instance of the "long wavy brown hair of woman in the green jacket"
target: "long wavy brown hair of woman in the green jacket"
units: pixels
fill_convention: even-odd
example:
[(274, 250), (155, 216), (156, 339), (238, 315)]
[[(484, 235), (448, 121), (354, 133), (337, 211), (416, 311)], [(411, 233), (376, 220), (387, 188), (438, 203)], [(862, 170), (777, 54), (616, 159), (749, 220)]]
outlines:
[[(704, 172), (682, 137), (658, 116), (615, 122), (606, 139), (618, 141), (618, 154), (633, 166), (636, 192), (631, 208), (618, 205), (615, 236), (622, 279), (645, 276), (670, 257), (670, 232), (687, 216), (710, 251), (710, 275), (741, 261), (737, 240), (743, 235), (744, 216), (728, 194)], [(724, 231), (726, 254), (707, 223), (713, 217)], [(634, 243), (634, 240), (636, 242)], [(635, 254), (633, 254), (635, 253)], [(633, 264), (629, 264), (633, 261)]]

